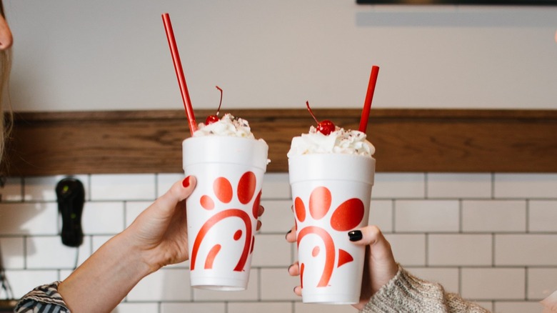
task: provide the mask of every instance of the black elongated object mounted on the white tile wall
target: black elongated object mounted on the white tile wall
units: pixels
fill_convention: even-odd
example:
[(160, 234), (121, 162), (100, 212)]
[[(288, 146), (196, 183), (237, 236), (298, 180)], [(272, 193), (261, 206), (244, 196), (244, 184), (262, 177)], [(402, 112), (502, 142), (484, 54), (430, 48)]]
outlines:
[(65, 178), (56, 184), (58, 212), (62, 217), (62, 243), (79, 247), (83, 243), (81, 214), (85, 204), (85, 189), (79, 179)]

